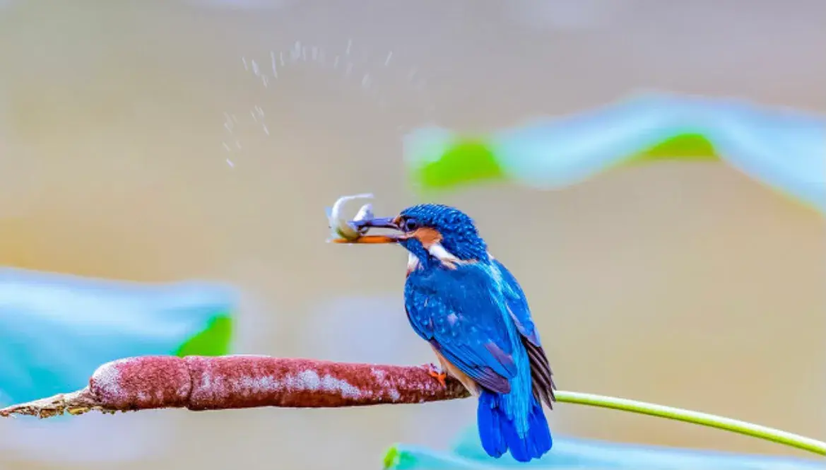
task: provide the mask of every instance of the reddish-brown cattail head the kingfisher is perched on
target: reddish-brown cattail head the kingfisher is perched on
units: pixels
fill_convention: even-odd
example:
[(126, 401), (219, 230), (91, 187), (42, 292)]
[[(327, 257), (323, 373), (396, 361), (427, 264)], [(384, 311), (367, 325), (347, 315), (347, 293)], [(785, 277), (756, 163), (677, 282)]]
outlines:
[(89, 386), (0, 409), (0, 416), (40, 418), (68, 412), (188, 408), (229, 410), (259, 406), (330, 408), (424, 403), (469, 396), (454, 380), (447, 387), (427, 366), (334, 363), (268, 356), (140, 356), (105, 363)]

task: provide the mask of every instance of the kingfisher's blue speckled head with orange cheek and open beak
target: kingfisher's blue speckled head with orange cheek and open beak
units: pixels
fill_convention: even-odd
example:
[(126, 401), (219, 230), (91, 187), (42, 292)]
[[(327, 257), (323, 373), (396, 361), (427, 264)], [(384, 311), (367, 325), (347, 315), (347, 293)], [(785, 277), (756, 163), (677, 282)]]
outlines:
[(356, 221), (357, 227), (393, 230), (387, 235), (364, 235), (352, 243), (397, 243), (422, 266), (442, 263), (487, 262), (487, 245), (470, 218), (455, 207), (420, 204), (398, 216)]

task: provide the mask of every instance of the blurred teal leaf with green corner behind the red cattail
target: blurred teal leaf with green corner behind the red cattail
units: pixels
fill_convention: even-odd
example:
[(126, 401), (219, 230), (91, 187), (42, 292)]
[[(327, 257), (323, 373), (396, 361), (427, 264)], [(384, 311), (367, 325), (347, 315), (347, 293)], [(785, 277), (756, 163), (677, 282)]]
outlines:
[(85, 387), (102, 363), (230, 350), (235, 292), (0, 269), (0, 405)]

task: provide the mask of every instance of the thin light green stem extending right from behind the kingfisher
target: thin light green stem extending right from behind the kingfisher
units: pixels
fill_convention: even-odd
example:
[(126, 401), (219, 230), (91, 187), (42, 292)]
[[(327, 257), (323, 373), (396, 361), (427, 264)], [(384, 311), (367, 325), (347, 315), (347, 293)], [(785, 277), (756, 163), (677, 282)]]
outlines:
[(761, 425), (752, 425), (746, 421), (733, 420), (722, 416), (700, 413), (700, 411), (682, 410), (672, 406), (654, 405), (644, 401), (626, 400), (614, 396), (595, 395), (592, 393), (556, 391), (557, 401), (576, 403), (578, 405), (598, 406), (613, 410), (630, 411), (641, 415), (658, 416), (669, 420), (684, 421), (695, 425), (709, 426), (719, 430), (745, 434), (765, 439), (777, 444), (784, 444), (797, 449), (808, 450), (819, 455), (826, 455), (826, 443), (799, 434), (787, 433)]

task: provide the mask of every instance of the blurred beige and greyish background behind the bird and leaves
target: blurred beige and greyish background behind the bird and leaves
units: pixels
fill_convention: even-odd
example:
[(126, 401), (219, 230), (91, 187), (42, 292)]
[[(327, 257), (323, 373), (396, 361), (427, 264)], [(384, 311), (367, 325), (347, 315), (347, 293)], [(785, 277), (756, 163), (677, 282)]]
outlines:
[[(242, 328), (266, 325), (244, 353), (427, 362), (401, 311), (406, 254), (324, 243), (340, 194), (374, 192), (382, 213), (417, 202), (401, 162), (411, 127), (487, 131), (641, 88), (826, 112), (818, 0), (264, 3), (0, 10), (0, 262), (227, 280), (254, 305)], [(286, 58), (278, 78), (271, 52)], [(814, 212), (724, 164), (439, 200), (475, 216), (520, 278), (559, 387), (826, 438)], [(178, 426), (173, 447), (117, 468), (378, 468), (392, 442), (444, 447), (475, 413), (468, 401), (154, 415)], [(791, 452), (577, 406), (552, 419), (563, 434)]]

